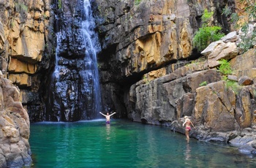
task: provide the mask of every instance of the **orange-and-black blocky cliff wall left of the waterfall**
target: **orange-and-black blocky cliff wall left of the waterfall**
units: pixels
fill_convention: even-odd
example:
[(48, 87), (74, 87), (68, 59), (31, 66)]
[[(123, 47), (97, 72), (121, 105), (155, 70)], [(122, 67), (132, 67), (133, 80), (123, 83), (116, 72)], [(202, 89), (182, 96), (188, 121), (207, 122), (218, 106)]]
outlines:
[(49, 75), (55, 55), (51, 3), (50, 0), (0, 2), (1, 71), (20, 88), (20, 102), (32, 121), (45, 118), (40, 89), (47, 81), (45, 75)]

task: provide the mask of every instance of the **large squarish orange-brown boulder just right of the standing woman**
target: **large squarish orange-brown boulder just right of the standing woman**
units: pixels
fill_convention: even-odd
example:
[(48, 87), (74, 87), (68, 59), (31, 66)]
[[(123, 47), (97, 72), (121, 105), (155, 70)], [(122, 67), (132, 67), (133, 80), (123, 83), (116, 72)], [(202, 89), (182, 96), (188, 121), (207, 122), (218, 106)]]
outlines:
[(197, 88), (195, 97), (195, 123), (208, 126), (211, 131), (233, 131), (235, 120), (236, 95), (225, 88), (225, 82), (210, 83)]

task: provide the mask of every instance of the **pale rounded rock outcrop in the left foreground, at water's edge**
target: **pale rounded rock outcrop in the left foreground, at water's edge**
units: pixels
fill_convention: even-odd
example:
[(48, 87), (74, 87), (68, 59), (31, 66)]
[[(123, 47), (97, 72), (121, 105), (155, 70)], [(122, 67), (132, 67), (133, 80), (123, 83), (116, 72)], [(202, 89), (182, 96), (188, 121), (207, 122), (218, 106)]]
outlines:
[(19, 89), (0, 75), (0, 167), (30, 166), (29, 127)]

